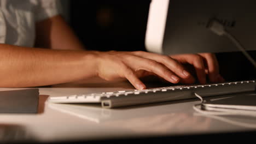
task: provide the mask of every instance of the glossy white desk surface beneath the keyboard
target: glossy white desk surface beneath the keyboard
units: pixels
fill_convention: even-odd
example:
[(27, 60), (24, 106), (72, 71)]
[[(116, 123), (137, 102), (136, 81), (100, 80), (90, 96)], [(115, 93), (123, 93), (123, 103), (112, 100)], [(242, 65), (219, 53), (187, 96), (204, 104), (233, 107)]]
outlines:
[[(38, 114), (0, 114), (0, 124), (20, 125), (41, 142), (125, 137), (207, 134), (256, 130), (256, 118), (206, 117), (193, 110), (199, 99), (101, 109), (99, 105), (45, 103), (49, 96), (110, 92), (133, 87), (127, 82), (84, 82), (39, 88)], [(18, 88), (20, 89), (20, 88)], [(10, 88), (0, 88), (0, 91)]]

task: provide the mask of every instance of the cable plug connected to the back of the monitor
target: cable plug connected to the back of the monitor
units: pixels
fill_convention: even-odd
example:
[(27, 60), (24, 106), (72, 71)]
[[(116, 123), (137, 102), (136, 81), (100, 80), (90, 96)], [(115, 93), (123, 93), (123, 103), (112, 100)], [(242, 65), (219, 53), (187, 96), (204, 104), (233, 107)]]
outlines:
[(225, 28), (222, 25), (222, 23), (218, 22), (215, 19), (212, 19), (207, 26), (213, 33), (216, 33), (217, 35), (224, 35), (225, 34)]

